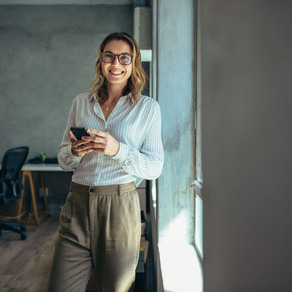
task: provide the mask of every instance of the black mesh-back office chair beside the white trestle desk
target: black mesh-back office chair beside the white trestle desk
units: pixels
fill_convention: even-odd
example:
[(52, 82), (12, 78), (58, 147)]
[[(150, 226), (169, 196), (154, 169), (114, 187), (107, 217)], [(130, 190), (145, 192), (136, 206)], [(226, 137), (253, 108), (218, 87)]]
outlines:
[[(21, 198), (22, 183), (20, 170), (25, 163), (29, 148), (27, 146), (15, 147), (7, 150), (2, 159), (0, 173), (0, 204), (11, 203)], [(15, 228), (20, 227), (20, 229)], [(26, 239), (26, 228), (22, 223), (4, 222), (0, 220), (1, 230), (11, 230), (20, 234), (20, 239)]]

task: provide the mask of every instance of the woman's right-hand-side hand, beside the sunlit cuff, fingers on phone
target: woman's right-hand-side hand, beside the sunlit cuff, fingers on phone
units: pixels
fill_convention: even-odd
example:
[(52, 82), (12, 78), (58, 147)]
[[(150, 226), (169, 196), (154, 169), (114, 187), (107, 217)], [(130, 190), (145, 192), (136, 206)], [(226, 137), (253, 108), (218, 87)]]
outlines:
[[(109, 132), (102, 132), (96, 129), (87, 129), (88, 133), (93, 133), (95, 136), (82, 136), (82, 140), (86, 141), (84, 145), (91, 146), (91, 150), (102, 152), (106, 155), (116, 155), (120, 148), (120, 142), (117, 141)], [(93, 142), (90, 142), (93, 141)], [(94, 143), (98, 142), (98, 143)]]

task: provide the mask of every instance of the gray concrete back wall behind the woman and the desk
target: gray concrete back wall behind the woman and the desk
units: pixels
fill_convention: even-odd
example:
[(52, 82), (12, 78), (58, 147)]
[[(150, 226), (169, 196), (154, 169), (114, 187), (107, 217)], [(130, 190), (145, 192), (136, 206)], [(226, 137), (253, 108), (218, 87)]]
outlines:
[[(100, 42), (133, 34), (133, 6), (1, 5), (0, 28), (0, 157), (20, 145), (28, 158), (56, 157), (72, 101), (94, 78)], [(50, 203), (64, 204), (71, 175), (45, 173)]]

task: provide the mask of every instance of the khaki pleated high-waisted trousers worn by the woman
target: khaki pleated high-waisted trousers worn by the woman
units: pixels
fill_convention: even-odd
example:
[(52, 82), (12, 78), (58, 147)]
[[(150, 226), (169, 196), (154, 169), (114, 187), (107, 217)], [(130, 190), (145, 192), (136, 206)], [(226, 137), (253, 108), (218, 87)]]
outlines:
[(98, 292), (132, 292), (141, 215), (134, 182), (72, 182), (60, 213), (47, 292), (84, 292), (94, 270)]

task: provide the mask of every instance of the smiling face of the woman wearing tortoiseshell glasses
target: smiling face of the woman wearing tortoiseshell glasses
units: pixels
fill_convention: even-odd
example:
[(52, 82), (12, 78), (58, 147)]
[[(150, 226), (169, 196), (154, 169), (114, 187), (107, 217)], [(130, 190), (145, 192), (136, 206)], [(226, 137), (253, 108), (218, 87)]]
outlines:
[[(112, 54), (128, 54), (133, 56), (133, 51), (131, 50), (131, 47), (126, 41), (122, 40), (113, 40), (107, 42), (105, 45), (105, 48), (103, 52), (112, 53)], [(112, 63), (105, 63), (101, 62), (101, 69), (102, 73), (110, 83), (116, 83), (116, 84), (126, 84), (128, 83), (128, 78), (132, 74), (132, 65), (133, 65), (133, 58), (131, 61), (131, 64), (129, 65), (123, 65), (119, 62), (118, 56), (115, 56)], [(121, 74), (114, 74), (111, 73), (111, 71), (115, 72), (122, 72)]]

